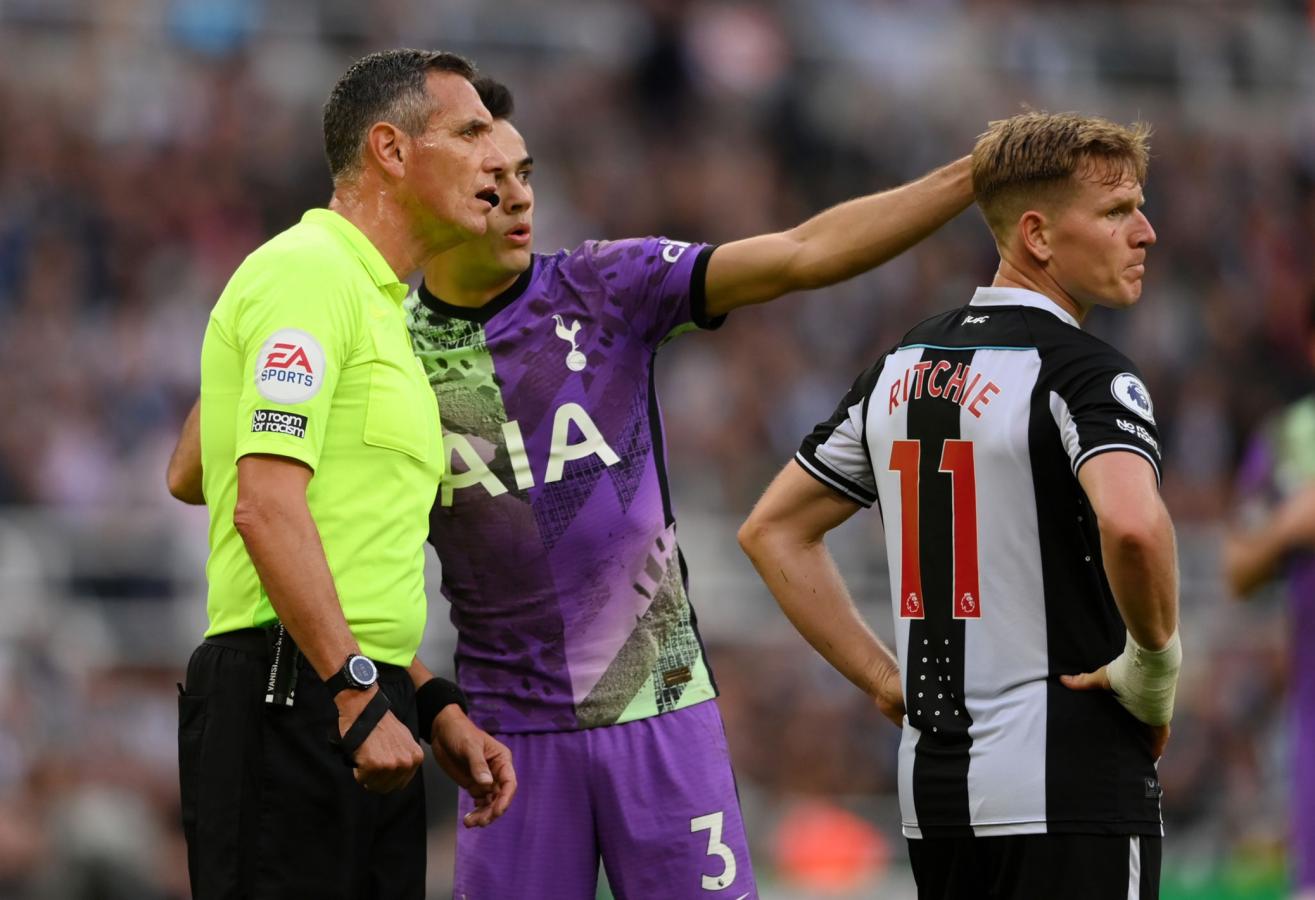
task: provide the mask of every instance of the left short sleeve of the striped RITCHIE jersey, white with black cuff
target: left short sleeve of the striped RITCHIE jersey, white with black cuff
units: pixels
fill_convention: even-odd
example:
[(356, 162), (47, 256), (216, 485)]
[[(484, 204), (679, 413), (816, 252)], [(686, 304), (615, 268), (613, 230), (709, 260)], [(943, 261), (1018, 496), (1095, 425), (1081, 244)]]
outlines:
[(794, 461), (813, 478), (849, 500), (871, 507), (877, 501), (877, 478), (868, 453), (868, 397), (885, 359), (859, 375), (831, 417), (803, 438)]

